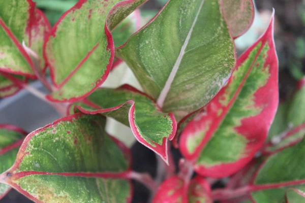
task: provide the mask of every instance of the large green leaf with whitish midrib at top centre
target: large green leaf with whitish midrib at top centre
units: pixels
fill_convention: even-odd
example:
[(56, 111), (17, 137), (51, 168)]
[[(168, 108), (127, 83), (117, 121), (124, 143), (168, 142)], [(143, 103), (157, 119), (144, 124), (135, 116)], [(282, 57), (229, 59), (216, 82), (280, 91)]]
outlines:
[(116, 54), (177, 121), (208, 103), (235, 64), (218, 0), (168, 1)]

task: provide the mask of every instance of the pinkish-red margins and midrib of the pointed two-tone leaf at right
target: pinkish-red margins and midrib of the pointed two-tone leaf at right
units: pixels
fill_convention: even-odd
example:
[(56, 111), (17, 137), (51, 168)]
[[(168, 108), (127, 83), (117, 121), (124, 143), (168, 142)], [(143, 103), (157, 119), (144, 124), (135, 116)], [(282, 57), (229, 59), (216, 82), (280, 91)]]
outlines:
[[(225, 177), (232, 175), (235, 173), (239, 168), (246, 165), (255, 155), (257, 150), (261, 148), (263, 145), (269, 127), (271, 125), (271, 121), (275, 115), (278, 106), (278, 59), (275, 52), (275, 44), (273, 41), (273, 20), (274, 15), (271, 18), (271, 22), (265, 31), (265, 33), (260, 37), (260, 39), (252, 45), (245, 53), (243, 53), (237, 61), (236, 68), (238, 68), (249, 56), (252, 49), (256, 47), (259, 43), (262, 43), (260, 46), (260, 50), (258, 51), (256, 58), (260, 54), (263, 46), (268, 43), (270, 49), (268, 51), (268, 57), (265, 59), (264, 66), (269, 67), (269, 74), (270, 77), (267, 80), (267, 83), (259, 88), (254, 96), (254, 103), (255, 105), (264, 104), (263, 110), (255, 117), (244, 118), (241, 120), (241, 126), (236, 126), (235, 130), (245, 136), (249, 141), (246, 147), (246, 156), (243, 156), (239, 160), (232, 162), (232, 163), (221, 163), (214, 166), (204, 166), (200, 164), (195, 165), (195, 171), (200, 173), (201, 175), (209, 176), (209, 177)], [(255, 61), (255, 60), (254, 60)], [(208, 143), (211, 139), (214, 132), (217, 130), (219, 124), (222, 122), (224, 116), (229, 111), (230, 107), (234, 103), (235, 99), (237, 98), (243, 83), (245, 83), (250, 71), (254, 68), (254, 63), (250, 67), (249, 71), (245, 78), (243, 78), (241, 84), (238, 86), (238, 89), (234, 93), (233, 98), (229, 101), (229, 104), (222, 109), (222, 113), (220, 116), (217, 115), (216, 112), (213, 113), (213, 108), (219, 106), (219, 99), (225, 93), (226, 88), (232, 82), (232, 77), (230, 78), (227, 86), (225, 86), (205, 107), (206, 113), (202, 114), (201, 116), (197, 116), (198, 118), (194, 118), (188, 126), (185, 128), (184, 132), (181, 134), (180, 138), (180, 151), (181, 153), (188, 159), (193, 160), (194, 162), (200, 155), (201, 150), (204, 146)], [(236, 71), (236, 70), (235, 70)], [(272, 90), (272, 94), (265, 96), (266, 92), (270, 92)], [(268, 107), (268, 108), (266, 108)], [(196, 131), (201, 130), (202, 126), (208, 119), (212, 120), (212, 125), (208, 129), (205, 134), (204, 139), (201, 141), (200, 145), (194, 150), (194, 152), (189, 152), (187, 148), (187, 139), (189, 134), (195, 134)], [(264, 122), (262, 122), (264, 120)], [(202, 125), (202, 126), (201, 126)], [(201, 127), (200, 127), (201, 126)], [(258, 128), (258, 126), (260, 126)], [(251, 132), (251, 133), (249, 133)]]

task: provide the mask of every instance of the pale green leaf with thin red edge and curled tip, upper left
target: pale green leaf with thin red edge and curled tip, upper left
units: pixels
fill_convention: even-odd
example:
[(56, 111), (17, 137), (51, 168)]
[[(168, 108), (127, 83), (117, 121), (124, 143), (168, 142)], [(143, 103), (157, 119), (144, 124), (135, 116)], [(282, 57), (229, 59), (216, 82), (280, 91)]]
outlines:
[(56, 90), (51, 101), (74, 102), (88, 96), (107, 78), (114, 58), (110, 34), (147, 0), (80, 0), (54, 25), (44, 45)]

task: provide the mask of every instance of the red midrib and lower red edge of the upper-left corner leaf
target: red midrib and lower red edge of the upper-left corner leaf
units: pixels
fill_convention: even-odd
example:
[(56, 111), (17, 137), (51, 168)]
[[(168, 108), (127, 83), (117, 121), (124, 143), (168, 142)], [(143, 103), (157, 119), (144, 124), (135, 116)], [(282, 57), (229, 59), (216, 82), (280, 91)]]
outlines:
[[(34, 63), (32, 59), (28, 56), (28, 54), (25, 52), (23, 49), (22, 45), (18, 42), (14, 34), (11, 32), (11, 30), (7, 27), (7, 25), (3, 22), (2, 19), (0, 19), (0, 25), (3, 27), (4, 31), (7, 33), (7, 35), (11, 38), (12, 42), (15, 44), (15, 46), (18, 48), (22, 56), (25, 58), (25, 60), (28, 62), (28, 64), (32, 67), (32, 70), (34, 69)], [(8, 69), (8, 67), (0, 67), (0, 70), (3, 72), (7, 73), (12, 73), (12, 74), (18, 74), (18, 75), (23, 75), (31, 79), (35, 79), (36, 76), (34, 74), (27, 74), (23, 73), (21, 71), (13, 71), (11, 69)]]

